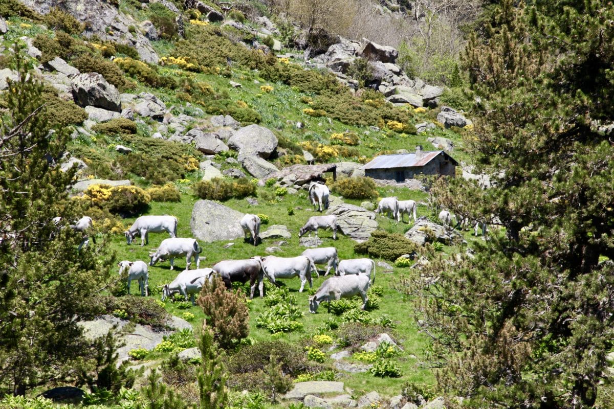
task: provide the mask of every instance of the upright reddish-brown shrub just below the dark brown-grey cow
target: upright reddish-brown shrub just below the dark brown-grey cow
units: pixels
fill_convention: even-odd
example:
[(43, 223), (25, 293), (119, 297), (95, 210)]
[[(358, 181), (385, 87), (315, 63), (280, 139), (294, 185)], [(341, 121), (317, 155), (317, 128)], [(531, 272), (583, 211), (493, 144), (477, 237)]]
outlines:
[(249, 309), (240, 290), (226, 291), (222, 278), (206, 281), (196, 300), (222, 348), (235, 346), (249, 335)]

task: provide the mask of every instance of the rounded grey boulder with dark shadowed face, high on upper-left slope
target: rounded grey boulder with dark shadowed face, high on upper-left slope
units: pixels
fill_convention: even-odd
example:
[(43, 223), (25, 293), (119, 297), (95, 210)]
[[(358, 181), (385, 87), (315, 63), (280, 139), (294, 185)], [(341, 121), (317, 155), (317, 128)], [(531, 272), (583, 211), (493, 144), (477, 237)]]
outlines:
[(77, 105), (122, 112), (119, 92), (96, 72), (75, 75), (71, 81), (72, 97)]

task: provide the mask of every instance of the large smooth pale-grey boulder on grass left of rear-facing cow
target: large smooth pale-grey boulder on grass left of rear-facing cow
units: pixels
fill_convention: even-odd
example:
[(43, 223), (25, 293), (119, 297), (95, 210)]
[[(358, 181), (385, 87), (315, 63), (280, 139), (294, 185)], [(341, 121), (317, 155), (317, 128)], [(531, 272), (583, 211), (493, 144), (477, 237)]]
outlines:
[(244, 214), (214, 201), (197, 201), (192, 210), (190, 229), (203, 242), (233, 240), (243, 237), (239, 222)]

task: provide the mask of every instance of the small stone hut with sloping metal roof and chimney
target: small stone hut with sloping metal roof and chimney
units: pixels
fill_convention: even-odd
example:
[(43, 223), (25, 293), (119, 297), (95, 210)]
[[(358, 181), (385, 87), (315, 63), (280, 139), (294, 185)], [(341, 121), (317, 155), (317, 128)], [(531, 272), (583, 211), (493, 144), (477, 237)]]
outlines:
[(397, 155), (380, 155), (365, 164), (365, 176), (374, 179), (395, 180), (405, 182), (416, 175), (456, 175), (458, 162), (443, 150), (422, 151), (422, 146), (416, 147), (415, 153), (399, 153)]

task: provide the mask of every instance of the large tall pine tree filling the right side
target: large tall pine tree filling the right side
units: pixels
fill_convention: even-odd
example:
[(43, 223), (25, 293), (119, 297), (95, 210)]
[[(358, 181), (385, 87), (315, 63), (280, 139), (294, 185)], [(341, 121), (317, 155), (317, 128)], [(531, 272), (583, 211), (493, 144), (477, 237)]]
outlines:
[[(419, 279), (437, 378), (472, 407), (588, 408), (614, 335), (614, 7), (505, 0), (464, 56), (481, 98), (465, 141), (494, 186), (438, 182), (452, 212), (505, 227)], [(429, 276), (429, 273), (425, 273)], [(602, 402), (604, 403), (604, 402)], [(606, 402), (607, 403), (607, 402)]]

